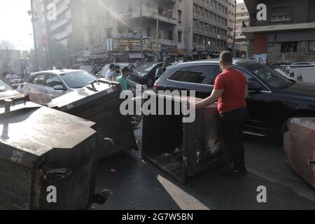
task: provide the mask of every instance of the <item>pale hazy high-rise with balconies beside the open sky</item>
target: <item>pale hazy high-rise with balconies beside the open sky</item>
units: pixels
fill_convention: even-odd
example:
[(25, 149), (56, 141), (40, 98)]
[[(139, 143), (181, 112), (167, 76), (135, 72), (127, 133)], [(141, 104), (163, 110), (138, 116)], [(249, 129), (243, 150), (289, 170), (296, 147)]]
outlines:
[(85, 52), (83, 0), (32, 1), (41, 68), (76, 64)]

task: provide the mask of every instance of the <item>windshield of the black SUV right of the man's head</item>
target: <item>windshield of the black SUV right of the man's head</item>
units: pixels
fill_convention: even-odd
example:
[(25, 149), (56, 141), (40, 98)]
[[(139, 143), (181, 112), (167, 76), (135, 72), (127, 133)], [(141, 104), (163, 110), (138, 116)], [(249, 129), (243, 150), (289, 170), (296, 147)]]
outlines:
[(247, 69), (255, 73), (257, 78), (264, 80), (265, 83), (276, 89), (283, 89), (294, 84), (292, 80), (281, 75), (281, 73), (274, 71), (265, 64), (256, 62), (239, 62), (239, 65), (245, 66)]

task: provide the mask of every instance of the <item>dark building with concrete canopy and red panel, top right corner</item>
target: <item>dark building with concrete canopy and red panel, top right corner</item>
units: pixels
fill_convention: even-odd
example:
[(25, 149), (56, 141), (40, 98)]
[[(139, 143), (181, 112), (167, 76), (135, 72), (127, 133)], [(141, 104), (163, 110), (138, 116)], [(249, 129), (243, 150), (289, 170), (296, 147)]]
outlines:
[[(243, 28), (249, 57), (275, 65), (284, 62), (315, 62), (315, 1), (245, 0), (251, 22)], [(257, 5), (267, 6), (267, 20), (256, 19)]]

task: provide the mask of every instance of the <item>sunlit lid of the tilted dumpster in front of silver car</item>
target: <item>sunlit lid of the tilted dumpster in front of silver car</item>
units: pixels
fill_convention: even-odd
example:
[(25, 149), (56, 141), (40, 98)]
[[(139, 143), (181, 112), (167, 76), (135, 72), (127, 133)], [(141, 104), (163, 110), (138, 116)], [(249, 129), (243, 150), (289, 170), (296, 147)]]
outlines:
[[(99, 83), (94, 83), (94, 88), (92, 85), (83, 87), (81, 89), (64, 94), (61, 97), (52, 99), (50, 103), (47, 104), (50, 108), (59, 108), (61, 111), (67, 111), (75, 106), (80, 106), (90, 102), (91, 100), (97, 99), (112, 92), (118, 91), (119, 83), (111, 83), (103, 80), (99, 80)], [(62, 109), (64, 107), (64, 109)]]

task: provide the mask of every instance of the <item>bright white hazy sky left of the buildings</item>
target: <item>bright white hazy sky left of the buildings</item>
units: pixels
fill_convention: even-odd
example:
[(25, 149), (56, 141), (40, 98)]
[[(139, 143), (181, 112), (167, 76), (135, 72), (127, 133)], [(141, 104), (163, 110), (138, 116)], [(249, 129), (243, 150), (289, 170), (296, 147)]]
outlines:
[[(189, 1), (189, 0), (188, 0)], [(237, 0), (237, 2), (244, 2)], [(18, 50), (29, 50), (34, 46), (30, 0), (1, 0), (0, 4), (0, 42), (13, 43)]]

